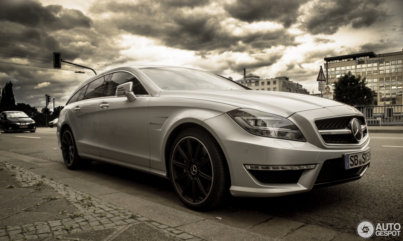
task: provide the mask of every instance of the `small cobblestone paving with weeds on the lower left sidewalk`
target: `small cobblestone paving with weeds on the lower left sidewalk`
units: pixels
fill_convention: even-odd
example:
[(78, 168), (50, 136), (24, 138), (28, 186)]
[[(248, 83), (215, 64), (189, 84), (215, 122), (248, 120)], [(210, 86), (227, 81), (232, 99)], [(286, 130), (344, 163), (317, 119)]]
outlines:
[[(133, 226), (131, 224), (139, 222), (150, 223), (153, 225), (153, 227), (156, 227), (160, 231), (164, 232), (167, 238), (172, 237), (172, 239), (187, 241), (202, 240), (173, 227), (154, 222), (153, 220), (143, 217), (137, 213), (129, 212), (129, 210), (124, 210), (123, 208), (114, 206), (108, 202), (104, 202), (99, 198), (95, 198), (94, 196), (75, 190), (68, 185), (58, 183), (52, 180), (52, 178), (37, 175), (27, 169), (16, 167), (4, 161), (0, 161), (0, 165), (1, 168), (6, 167), (11, 172), (11, 175), (21, 183), (22, 187), (36, 186), (40, 190), (41, 186), (49, 185), (58, 194), (60, 194), (62, 198), (68, 200), (78, 209), (77, 212), (65, 213), (66, 218), (60, 220), (34, 222), (15, 227), (8, 227), (6, 225), (4, 227), (0, 227), (0, 241), (29, 240), (46, 237), (58, 237), (61, 239), (62, 237), (59, 237), (60, 235), (64, 237), (66, 234), (70, 233), (104, 230), (111, 227), (121, 227), (119, 230), (127, 230), (128, 232), (133, 232), (133, 230), (136, 230), (137, 232), (139, 227), (143, 226)], [(8, 186), (8, 188), (12, 188), (10, 186)], [(53, 200), (58, 198), (60, 197), (47, 196), (42, 199)], [(60, 214), (63, 213), (64, 212), (61, 212)], [(8, 215), (5, 218), (9, 216), (12, 215)], [(133, 227), (136, 227), (136, 229)], [(144, 226), (143, 229), (146, 229), (146, 226)]]

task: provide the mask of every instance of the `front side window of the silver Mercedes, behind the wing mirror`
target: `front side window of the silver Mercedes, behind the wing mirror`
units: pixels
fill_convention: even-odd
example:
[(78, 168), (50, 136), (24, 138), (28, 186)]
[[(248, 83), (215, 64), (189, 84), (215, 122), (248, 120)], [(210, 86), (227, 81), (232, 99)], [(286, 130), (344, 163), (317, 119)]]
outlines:
[(147, 91), (141, 85), (137, 78), (127, 72), (116, 72), (112, 74), (112, 78), (109, 81), (108, 91), (106, 96), (116, 95), (116, 87), (119, 84), (124, 84), (126, 82), (133, 82), (133, 92), (135, 95), (148, 95)]

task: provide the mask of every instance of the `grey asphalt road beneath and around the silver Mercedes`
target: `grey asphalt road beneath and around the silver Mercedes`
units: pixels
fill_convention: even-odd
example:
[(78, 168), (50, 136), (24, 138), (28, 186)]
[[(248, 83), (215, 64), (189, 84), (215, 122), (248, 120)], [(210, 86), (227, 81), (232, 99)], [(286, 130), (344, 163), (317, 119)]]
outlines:
[[(35, 133), (2, 133), (0, 150), (62, 163), (55, 132), (38, 128)], [(358, 181), (278, 198), (232, 197), (222, 208), (197, 215), (211, 219), (251, 210), (351, 233), (362, 220), (403, 224), (403, 134), (370, 137), (371, 166)], [(100, 185), (195, 214), (181, 204), (169, 180), (99, 162), (77, 173), (89, 181), (102, 177)]]

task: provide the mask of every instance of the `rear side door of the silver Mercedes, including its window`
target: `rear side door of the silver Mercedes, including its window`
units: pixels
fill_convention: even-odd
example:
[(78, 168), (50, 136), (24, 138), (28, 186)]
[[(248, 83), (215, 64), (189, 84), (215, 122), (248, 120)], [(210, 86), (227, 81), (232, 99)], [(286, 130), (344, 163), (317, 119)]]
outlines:
[(97, 128), (97, 107), (104, 89), (104, 76), (89, 82), (77, 95), (77, 102), (68, 108), (68, 117), (76, 144), (84, 153), (100, 155), (99, 133)]

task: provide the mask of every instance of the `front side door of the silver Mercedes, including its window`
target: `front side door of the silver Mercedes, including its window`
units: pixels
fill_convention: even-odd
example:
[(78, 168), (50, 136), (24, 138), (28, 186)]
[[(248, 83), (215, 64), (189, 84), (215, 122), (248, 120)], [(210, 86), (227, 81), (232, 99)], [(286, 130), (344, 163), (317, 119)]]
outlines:
[[(133, 82), (137, 99), (129, 102), (117, 97), (116, 87)], [(106, 89), (107, 88), (107, 89)], [(115, 72), (104, 89), (105, 97), (98, 106), (98, 129), (102, 157), (150, 167), (147, 138), (147, 104), (151, 96), (141, 82), (129, 72)]]

